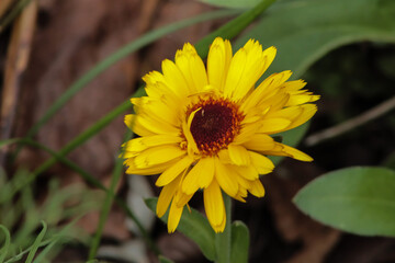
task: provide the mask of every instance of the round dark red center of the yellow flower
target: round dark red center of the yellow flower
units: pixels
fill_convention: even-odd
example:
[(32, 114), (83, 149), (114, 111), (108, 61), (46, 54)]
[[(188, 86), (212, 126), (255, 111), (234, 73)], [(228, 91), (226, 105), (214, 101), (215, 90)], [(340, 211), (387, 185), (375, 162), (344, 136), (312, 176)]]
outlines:
[(234, 140), (244, 116), (236, 104), (224, 99), (201, 101), (190, 112), (198, 108), (190, 130), (199, 150), (213, 156)]

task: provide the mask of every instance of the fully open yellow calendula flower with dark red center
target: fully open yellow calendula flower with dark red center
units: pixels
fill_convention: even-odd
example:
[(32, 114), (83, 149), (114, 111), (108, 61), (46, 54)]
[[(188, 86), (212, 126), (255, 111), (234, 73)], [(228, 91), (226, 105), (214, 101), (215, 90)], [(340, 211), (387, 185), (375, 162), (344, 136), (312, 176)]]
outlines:
[(135, 114), (125, 116), (140, 137), (124, 145), (124, 163), (129, 174), (160, 174), (156, 213), (162, 217), (170, 206), (169, 232), (199, 190), (211, 226), (222, 232), (222, 191), (241, 202), (248, 193), (263, 196), (259, 175), (274, 168), (266, 156), (313, 160), (270, 136), (308, 121), (317, 111), (311, 102), (319, 99), (303, 89), (304, 81), (287, 81), (291, 71), (274, 73), (256, 88), (275, 52), (250, 39), (233, 56), (230, 43), (217, 37), (205, 68), (187, 43), (174, 62), (162, 61), (162, 73), (143, 78), (147, 96), (132, 99)]

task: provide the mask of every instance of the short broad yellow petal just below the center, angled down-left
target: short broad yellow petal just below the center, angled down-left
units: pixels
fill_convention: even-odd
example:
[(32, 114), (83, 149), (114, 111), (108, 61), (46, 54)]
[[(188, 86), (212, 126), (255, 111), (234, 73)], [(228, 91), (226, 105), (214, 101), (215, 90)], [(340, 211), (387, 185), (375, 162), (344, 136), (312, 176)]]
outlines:
[(214, 178), (214, 159), (211, 157), (201, 159), (185, 175), (182, 182), (182, 192), (193, 194), (199, 188), (205, 188)]

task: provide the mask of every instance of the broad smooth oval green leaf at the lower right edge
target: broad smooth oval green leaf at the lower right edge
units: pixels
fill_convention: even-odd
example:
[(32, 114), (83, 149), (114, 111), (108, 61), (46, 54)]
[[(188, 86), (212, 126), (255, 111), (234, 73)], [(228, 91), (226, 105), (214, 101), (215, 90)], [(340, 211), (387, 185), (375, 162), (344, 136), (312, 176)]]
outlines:
[(296, 206), (341, 230), (395, 237), (395, 171), (356, 167), (327, 173), (302, 188)]

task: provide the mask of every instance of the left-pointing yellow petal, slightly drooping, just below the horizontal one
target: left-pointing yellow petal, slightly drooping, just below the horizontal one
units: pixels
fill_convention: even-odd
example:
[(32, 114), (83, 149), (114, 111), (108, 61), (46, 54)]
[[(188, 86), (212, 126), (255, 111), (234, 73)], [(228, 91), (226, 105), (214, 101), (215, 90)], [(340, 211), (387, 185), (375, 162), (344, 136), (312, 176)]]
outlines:
[(134, 164), (136, 168), (144, 169), (154, 167), (160, 163), (166, 163), (180, 157), (184, 156), (187, 152), (182, 150), (179, 146), (166, 145), (157, 146), (149, 148), (142, 153), (139, 153), (134, 159)]

